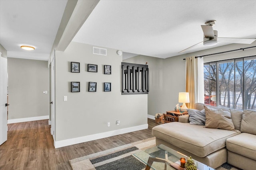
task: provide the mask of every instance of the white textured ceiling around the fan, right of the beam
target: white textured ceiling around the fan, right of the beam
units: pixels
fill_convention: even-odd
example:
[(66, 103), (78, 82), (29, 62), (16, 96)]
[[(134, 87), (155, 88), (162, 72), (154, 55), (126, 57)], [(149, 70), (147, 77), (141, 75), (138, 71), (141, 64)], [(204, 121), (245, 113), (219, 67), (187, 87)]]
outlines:
[(208, 20), (217, 20), (218, 37), (256, 38), (256, 1), (101, 0), (73, 41), (167, 58), (203, 41)]

